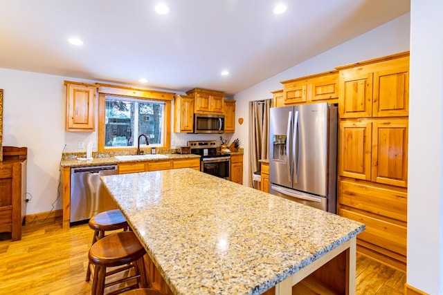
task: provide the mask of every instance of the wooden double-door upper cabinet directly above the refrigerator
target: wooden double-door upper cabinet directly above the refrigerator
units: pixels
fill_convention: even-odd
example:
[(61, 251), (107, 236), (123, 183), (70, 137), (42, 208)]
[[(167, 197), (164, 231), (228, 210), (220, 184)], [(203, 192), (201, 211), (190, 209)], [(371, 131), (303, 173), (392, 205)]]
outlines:
[[(281, 83), (283, 84), (283, 100), (286, 105), (314, 102), (330, 102), (334, 104), (338, 102), (337, 70), (287, 80)], [(278, 95), (278, 92), (273, 93)]]

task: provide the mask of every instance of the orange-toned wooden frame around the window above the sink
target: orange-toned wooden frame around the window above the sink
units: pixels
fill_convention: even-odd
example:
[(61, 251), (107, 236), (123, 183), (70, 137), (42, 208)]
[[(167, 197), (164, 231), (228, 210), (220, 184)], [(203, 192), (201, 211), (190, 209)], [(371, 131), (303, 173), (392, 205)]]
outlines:
[[(163, 91), (152, 91), (146, 89), (115, 86), (108, 84), (99, 84), (98, 87), (98, 151), (136, 151), (134, 146), (111, 146), (105, 147), (105, 117), (106, 106), (105, 98), (107, 95), (114, 97), (125, 97), (132, 99), (142, 99), (146, 101), (159, 101), (164, 103), (163, 113), (163, 145), (156, 144), (156, 148), (170, 149), (171, 145), (171, 102), (174, 99), (175, 93), (168, 93)], [(143, 149), (150, 148), (150, 146), (143, 146)]]

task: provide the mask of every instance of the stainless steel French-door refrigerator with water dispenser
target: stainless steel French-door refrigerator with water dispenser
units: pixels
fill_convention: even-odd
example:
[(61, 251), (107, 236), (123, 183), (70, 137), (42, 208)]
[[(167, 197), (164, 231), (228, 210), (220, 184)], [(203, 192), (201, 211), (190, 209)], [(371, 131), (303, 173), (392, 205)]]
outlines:
[(336, 213), (337, 107), (271, 108), (269, 193)]

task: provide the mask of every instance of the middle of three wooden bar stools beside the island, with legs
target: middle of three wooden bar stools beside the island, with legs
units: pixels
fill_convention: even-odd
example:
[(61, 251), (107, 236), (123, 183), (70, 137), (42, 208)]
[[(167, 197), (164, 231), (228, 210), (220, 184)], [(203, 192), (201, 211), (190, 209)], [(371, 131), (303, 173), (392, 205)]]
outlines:
[[(132, 285), (125, 285), (112, 291), (111, 294), (120, 294), (134, 287), (146, 288), (147, 276), (143, 256), (145, 248), (138, 241), (134, 231), (120, 231), (98, 240), (89, 249), (89, 261), (94, 265), (92, 295), (102, 295), (106, 287), (135, 280)], [(107, 272), (108, 267), (118, 267)], [(105, 283), (105, 277), (117, 274), (134, 267), (135, 274)]]

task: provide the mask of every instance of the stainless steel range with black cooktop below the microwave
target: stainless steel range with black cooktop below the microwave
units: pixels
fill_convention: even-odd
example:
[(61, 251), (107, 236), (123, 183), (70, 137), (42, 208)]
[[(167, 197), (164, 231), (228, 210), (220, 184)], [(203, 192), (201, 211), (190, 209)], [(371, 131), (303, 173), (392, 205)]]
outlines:
[(191, 153), (200, 155), (200, 171), (230, 180), (230, 154), (218, 151), (217, 140), (188, 142)]

